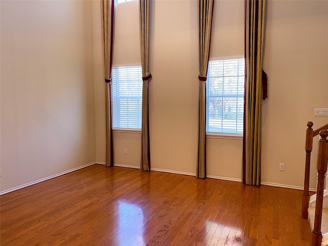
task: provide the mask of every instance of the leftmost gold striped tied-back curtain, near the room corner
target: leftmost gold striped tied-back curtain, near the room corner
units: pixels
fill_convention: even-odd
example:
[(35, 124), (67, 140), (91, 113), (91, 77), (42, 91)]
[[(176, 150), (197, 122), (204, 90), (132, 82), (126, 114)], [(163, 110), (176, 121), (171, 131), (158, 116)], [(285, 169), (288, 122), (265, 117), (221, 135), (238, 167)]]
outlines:
[(114, 166), (112, 129), (112, 57), (114, 34), (114, 0), (101, 0), (101, 24), (106, 84), (106, 167)]

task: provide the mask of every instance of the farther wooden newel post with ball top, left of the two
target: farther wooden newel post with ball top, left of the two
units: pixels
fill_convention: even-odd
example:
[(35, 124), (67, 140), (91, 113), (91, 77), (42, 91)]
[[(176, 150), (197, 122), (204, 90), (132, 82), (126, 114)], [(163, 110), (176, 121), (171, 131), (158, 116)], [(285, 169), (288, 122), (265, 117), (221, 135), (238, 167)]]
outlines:
[(310, 186), (310, 162), (311, 162), (311, 152), (313, 144), (313, 122), (309, 121), (308, 129), (306, 129), (306, 140), (305, 140), (305, 174), (304, 174), (304, 191), (302, 196), (302, 218), (308, 219), (308, 208), (309, 208), (309, 186)]

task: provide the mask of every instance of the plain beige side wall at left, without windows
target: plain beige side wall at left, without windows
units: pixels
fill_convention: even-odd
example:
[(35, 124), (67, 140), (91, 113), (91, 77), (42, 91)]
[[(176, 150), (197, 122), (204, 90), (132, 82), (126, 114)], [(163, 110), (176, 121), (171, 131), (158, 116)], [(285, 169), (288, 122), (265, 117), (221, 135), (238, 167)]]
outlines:
[(89, 1), (1, 1), (1, 191), (95, 161)]

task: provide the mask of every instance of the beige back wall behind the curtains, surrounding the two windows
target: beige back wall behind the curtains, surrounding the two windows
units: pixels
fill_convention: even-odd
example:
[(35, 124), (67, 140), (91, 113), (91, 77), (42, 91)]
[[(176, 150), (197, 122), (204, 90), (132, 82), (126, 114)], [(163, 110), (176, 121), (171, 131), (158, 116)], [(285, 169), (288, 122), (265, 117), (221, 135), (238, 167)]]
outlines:
[[(216, 1), (211, 59), (243, 57), (243, 1)], [(100, 25), (94, 3), (94, 24)], [(116, 5), (114, 64), (140, 64), (137, 2)], [(152, 1), (150, 140), (155, 169), (195, 173), (198, 110), (196, 1)], [(94, 45), (100, 44), (94, 32)], [(306, 122), (325, 124), (313, 109), (328, 107), (328, 2), (269, 1), (264, 70), (262, 181), (301, 187)], [(122, 47), (125, 48), (122, 48)], [(97, 49), (101, 45), (97, 45)], [(95, 51), (95, 54), (101, 52)], [(95, 55), (95, 60), (97, 57)], [(96, 160), (105, 161), (103, 78), (95, 79)], [(317, 89), (313, 89), (317, 88)], [(208, 175), (241, 178), (242, 140), (208, 138)], [(316, 144), (315, 144), (316, 146)], [(128, 148), (128, 155), (123, 149)], [(130, 154), (131, 153), (131, 154)], [(313, 156), (314, 161), (316, 155)], [(139, 166), (140, 135), (114, 133), (114, 162)], [(285, 171), (278, 169), (285, 163)], [(313, 165), (315, 170), (315, 162)], [(315, 172), (311, 187), (315, 187)]]

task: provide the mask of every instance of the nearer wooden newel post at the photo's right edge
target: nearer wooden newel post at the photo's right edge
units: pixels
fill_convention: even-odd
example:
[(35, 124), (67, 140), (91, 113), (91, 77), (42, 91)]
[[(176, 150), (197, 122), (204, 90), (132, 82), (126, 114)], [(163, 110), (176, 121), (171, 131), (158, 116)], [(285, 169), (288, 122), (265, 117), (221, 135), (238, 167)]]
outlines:
[(321, 219), (322, 219), (322, 203), (323, 203), (323, 190), (324, 190), (324, 178), (327, 171), (328, 164), (328, 136), (327, 130), (320, 131), (321, 139), (319, 140), (318, 147), (318, 184), (317, 184), (317, 199), (316, 199), (316, 213), (314, 217), (314, 227), (312, 231), (312, 246), (321, 245)]

